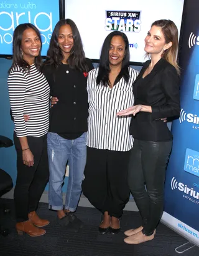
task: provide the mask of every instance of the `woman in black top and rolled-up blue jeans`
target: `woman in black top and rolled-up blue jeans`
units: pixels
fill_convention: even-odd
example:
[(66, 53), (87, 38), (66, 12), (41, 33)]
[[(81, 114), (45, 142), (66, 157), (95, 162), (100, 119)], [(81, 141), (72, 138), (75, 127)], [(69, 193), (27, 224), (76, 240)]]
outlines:
[[(93, 64), (85, 58), (80, 33), (71, 19), (62, 19), (56, 24), (47, 57), (43, 72), (50, 85), (50, 95), (57, 97), (57, 104), (50, 109), (47, 137), (49, 209), (57, 210), (58, 224), (77, 231), (83, 225), (73, 212), (80, 200), (86, 164), (86, 81)], [(63, 204), (62, 185), (67, 162), (69, 178)]]

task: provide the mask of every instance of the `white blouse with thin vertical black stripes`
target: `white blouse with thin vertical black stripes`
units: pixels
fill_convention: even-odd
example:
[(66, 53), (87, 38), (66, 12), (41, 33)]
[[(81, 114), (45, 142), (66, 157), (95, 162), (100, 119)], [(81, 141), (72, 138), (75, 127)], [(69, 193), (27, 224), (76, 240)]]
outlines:
[(127, 151), (132, 148), (133, 138), (129, 135), (131, 117), (117, 117), (116, 113), (134, 104), (132, 83), (138, 72), (129, 67), (129, 82), (124, 78), (111, 89), (96, 85), (98, 68), (88, 74), (87, 90), (90, 102), (88, 117), (88, 147)]

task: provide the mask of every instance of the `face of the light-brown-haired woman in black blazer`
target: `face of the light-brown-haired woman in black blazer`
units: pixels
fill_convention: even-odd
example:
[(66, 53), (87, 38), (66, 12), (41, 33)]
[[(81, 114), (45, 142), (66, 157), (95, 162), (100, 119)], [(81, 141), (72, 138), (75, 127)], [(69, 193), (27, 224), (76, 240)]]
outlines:
[(145, 38), (144, 51), (149, 54), (160, 54), (170, 47), (170, 43), (166, 44), (162, 29), (157, 26), (152, 26)]

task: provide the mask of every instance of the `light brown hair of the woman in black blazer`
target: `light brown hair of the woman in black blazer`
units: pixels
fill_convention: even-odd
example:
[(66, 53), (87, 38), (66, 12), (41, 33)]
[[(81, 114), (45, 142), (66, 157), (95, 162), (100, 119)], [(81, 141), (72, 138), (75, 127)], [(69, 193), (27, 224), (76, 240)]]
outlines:
[(178, 29), (173, 21), (170, 19), (160, 19), (159, 21), (154, 21), (151, 25), (157, 26), (162, 29), (164, 34), (166, 44), (172, 42), (172, 46), (169, 49), (165, 50), (162, 54), (162, 57), (172, 64), (177, 70), (178, 75), (180, 75), (180, 68), (177, 64), (177, 55), (178, 55)]

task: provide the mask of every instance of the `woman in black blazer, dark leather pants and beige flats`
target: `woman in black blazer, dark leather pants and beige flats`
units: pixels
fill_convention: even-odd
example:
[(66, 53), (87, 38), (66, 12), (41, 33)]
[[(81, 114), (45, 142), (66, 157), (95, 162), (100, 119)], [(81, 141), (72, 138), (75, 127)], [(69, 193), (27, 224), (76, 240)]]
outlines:
[(145, 39), (150, 60), (133, 85), (134, 106), (118, 116), (132, 114), (134, 137), (128, 183), (142, 216), (142, 225), (124, 232), (127, 244), (154, 239), (164, 209), (165, 169), (172, 149), (172, 134), (163, 117), (180, 114), (179, 67), (176, 62), (178, 31), (170, 20), (155, 21)]

